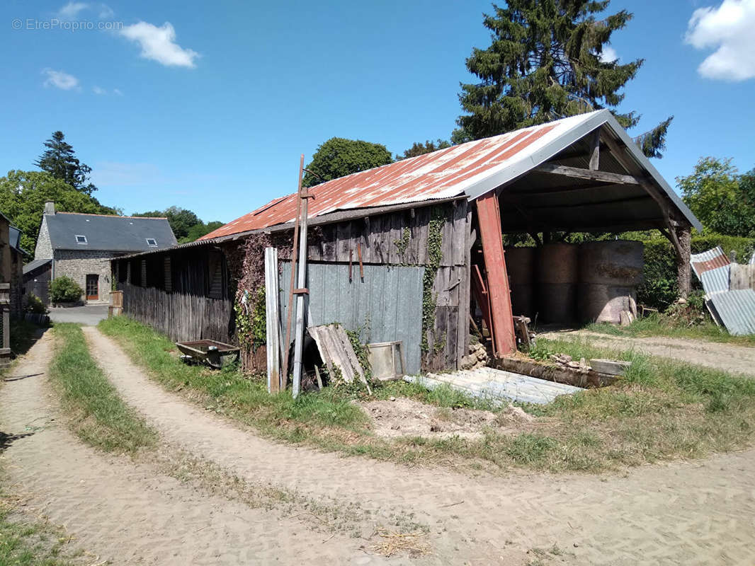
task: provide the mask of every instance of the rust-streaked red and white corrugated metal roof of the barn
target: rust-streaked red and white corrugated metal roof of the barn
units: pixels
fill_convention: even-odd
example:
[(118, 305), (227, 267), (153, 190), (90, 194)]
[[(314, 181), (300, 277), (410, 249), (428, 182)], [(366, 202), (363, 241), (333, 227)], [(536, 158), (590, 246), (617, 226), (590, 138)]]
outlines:
[[(689, 208), (605, 109), (462, 143), (319, 184), (310, 189), (315, 198), (309, 203), (309, 218), (358, 208), (453, 197), (477, 198), (532, 171), (601, 127), (612, 131), (646, 177), (666, 193), (692, 226), (701, 228)], [(268, 228), (291, 222), (295, 216), (294, 193), (275, 198), (200, 239)]]

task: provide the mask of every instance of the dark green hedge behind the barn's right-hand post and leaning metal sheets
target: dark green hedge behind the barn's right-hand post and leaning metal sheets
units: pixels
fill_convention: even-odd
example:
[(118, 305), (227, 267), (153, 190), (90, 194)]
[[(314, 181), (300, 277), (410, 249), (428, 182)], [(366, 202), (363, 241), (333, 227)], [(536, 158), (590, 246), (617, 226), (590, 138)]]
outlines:
[[(671, 242), (658, 237), (643, 240), (645, 245), (645, 272), (643, 283), (637, 288), (637, 302), (655, 309), (665, 310), (678, 297), (676, 285), (676, 252)], [(692, 253), (710, 250), (721, 246), (728, 255), (732, 250), (737, 260), (747, 263), (755, 250), (755, 238), (741, 238), (723, 234), (701, 234), (692, 236)], [(692, 288), (701, 288), (700, 281), (692, 274)]]

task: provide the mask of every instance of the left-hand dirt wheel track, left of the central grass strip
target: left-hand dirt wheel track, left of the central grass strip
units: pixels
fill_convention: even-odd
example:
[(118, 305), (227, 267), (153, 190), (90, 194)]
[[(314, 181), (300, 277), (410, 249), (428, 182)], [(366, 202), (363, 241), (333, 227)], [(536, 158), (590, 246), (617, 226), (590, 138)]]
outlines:
[[(47, 332), (6, 377), (0, 426), (16, 438), (2, 453), (8, 491), (22, 511), (63, 525), (75, 544), (110, 564), (364, 564), (343, 534), (208, 494), (148, 463), (95, 451), (75, 438), (48, 387)], [(294, 534), (294, 536), (291, 536)], [(367, 557), (369, 564), (383, 563)]]

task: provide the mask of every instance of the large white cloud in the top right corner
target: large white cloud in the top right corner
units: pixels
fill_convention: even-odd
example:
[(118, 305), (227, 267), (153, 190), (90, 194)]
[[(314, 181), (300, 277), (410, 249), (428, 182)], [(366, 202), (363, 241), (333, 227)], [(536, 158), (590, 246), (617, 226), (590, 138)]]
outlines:
[(755, 77), (755, 0), (723, 0), (692, 13), (684, 38), (698, 49), (716, 49), (698, 66), (705, 78)]

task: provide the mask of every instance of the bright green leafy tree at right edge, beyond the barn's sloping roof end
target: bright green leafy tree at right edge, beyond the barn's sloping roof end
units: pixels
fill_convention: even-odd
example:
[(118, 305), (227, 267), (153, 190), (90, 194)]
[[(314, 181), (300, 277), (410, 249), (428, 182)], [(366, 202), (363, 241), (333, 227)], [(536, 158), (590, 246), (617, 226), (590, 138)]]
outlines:
[(755, 236), (755, 169), (740, 175), (731, 159), (704, 157), (691, 175), (676, 177), (676, 183), (705, 228)]

